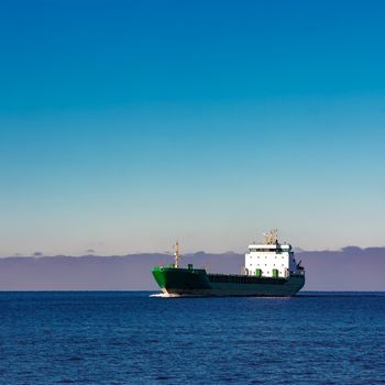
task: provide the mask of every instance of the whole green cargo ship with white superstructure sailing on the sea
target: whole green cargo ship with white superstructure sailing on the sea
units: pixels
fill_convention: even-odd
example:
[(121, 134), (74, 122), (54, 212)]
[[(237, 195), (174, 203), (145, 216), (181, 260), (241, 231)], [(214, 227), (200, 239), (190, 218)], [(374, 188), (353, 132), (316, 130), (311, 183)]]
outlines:
[(174, 255), (175, 263), (152, 271), (165, 295), (292, 297), (305, 285), (305, 268), (296, 262), (292, 245), (278, 242), (277, 230), (249, 245), (243, 274), (211, 274), (193, 264), (180, 267), (178, 242)]

